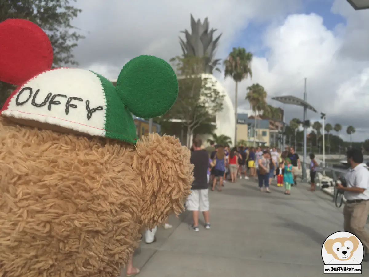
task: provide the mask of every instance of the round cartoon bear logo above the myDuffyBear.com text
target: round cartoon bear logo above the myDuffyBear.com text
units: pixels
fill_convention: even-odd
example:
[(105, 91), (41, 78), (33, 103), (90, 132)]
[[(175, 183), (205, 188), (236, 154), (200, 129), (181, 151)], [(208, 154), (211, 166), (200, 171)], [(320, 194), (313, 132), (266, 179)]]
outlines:
[(325, 264), (361, 264), (363, 256), (361, 241), (349, 232), (333, 233), (325, 240), (322, 248)]

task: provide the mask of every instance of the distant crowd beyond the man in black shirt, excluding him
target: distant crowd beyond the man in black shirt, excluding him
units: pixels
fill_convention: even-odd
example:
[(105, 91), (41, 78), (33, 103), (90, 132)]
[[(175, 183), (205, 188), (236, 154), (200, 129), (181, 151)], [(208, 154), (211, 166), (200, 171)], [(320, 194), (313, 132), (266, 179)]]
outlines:
[[(195, 139), (197, 140), (197, 138)], [(194, 140), (194, 141), (195, 141)], [(192, 152), (196, 147), (192, 147)], [(218, 191), (222, 191), (224, 183), (234, 183), (237, 178), (255, 178), (261, 191), (270, 193), (269, 185), (277, 179), (278, 187), (285, 187), (286, 194), (290, 194), (290, 187), (297, 185), (297, 177), (301, 176), (301, 163), (293, 147), (286, 147), (285, 151), (279, 148), (216, 145), (210, 141), (207, 147), (201, 146), (208, 154), (207, 180), (211, 190), (218, 184)], [(311, 191), (315, 191), (315, 171), (317, 163), (314, 154), (310, 154)]]

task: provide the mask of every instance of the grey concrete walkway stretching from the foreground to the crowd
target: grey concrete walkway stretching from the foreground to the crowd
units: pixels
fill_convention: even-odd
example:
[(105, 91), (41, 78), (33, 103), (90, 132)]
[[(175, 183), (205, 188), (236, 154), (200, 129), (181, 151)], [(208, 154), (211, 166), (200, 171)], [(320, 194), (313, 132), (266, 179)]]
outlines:
[[(210, 191), (211, 229), (190, 230), (189, 212), (170, 218), (173, 229), (160, 228), (157, 242), (138, 249), (139, 276), (324, 276), (321, 247), (342, 230), (342, 208), (307, 188), (299, 184), (288, 196), (275, 184), (266, 194), (255, 181), (227, 182), (223, 192)], [(362, 270), (369, 274), (369, 263)]]

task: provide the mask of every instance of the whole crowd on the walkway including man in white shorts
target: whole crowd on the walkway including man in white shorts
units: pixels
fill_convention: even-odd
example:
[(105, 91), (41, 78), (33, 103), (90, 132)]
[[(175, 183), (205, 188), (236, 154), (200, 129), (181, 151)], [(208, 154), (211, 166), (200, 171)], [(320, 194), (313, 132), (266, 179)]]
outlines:
[[(194, 164), (194, 181), (192, 193), (187, 198), (186, 209), (192, 211), (192, 229), (198, 232), (199, 212), (203, 213), (205, 229), (210, 229), (209, 215), (209, 185), (211, 191), (218, 184), (218, 191), (222, 191), (224, 183), (230, 180), (232, 183), (236, 178), (255, 178), (258, 181), (261, 192), (270, 193), (269, 185), (272, 179), (277, 179), (277, 186), (284, 186), (284, 194), (290, 195), (291, 186), (297, 185), (297, 176), (301, 174), (301, 163), (294, 148), (280, 149), (273, 147), (245, 147), (238, 146), (230, 148), (229, 145), (203, 146), (201, 138), (193, 139), (191, 147), (191, 163)], [(310, 155), (311, 165), (310, 191), (315, 191), (315, 171), (317, 163), (314, 155)]]

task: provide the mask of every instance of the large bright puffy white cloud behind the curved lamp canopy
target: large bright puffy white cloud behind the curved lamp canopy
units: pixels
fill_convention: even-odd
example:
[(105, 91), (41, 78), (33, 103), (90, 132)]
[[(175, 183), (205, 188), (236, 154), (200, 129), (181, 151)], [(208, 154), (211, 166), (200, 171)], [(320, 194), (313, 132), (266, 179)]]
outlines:
[[(368, 16), (369, 11), (366, 14)], [(347, 43), (346, 32), (343, 29), (335, 34), (327, 30), (323, 18), (316, 14), (288, 16), (282, 24), (266, 32), (264, 42), (269, 48), (268, 55), (254, 58), (254, 77), (239, 86), (238, 103), (241, 107), (242, 103), (245, 108), (249, 106), (243, 100), (246, 87), (256, 82), (265, 87), (270, 97), (294, 95), (303, 98), (303, 79), (307, 77), (308, 102), (327, 114), (327, 122), (353, 125), (358, 129), (353, 139), (365, 140), (369, 137), (366, 120), (369, 116), (369, 62), (358, 62), (341, 54)], [(233, 82), (226, 80), (225, 84), (232, 95)], [(293, 117), (302, 119), (302, 108), (269, 102), (285, 109), (287, 121)], [(309, 112), (308, 117), (318, 120), (320, 114)]]

